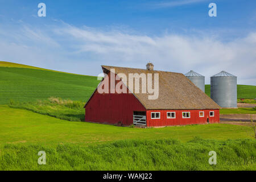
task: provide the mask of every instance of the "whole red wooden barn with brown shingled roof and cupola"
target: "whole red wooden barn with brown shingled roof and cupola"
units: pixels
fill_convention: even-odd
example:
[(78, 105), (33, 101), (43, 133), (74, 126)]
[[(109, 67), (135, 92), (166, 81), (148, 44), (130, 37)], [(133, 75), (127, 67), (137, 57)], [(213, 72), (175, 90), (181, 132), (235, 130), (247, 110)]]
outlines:
[[(85, 121), (146, 127), (220, 122), (220, 106), (187, 77), (182, 73), (154, 71), (153, 66), (147, 64), (147, 69), (102, 66), (106, 77), (98, 88), (109, 92), (101, 93), (98, 89), (94, 91), (85, 104)], [(142, 86), (137, 92), (129, 88), (127, 83), (134, 82), (128, 79), (129, 74), (136, 73), (141, 76), (139, 84), (142, 84), (143, 74), (151, 73), (154, 83), (154, 75), (158, 73), (158, 85), (152, 83), (154, 88), (159, 88), (158, 98), (148, 99), (152, 92), (142, 93)], [(116, 78), (114, 82), (111, 80), (113, 77)], [(111, 85), (111, 82), (119, 86), (119, 90), (111, 90), (109, 85), (104, 85)], [(119, 92), (120, 89), (126, 90), (126, 93)]]

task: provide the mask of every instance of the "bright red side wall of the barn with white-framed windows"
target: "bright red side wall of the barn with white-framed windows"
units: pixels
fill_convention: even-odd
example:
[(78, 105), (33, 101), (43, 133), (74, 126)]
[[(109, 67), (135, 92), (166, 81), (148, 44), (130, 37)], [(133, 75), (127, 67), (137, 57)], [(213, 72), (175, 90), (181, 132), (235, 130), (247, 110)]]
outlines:
[[(199, 112), (204, 111), (204, 117), (199, 117)], [(214, 117), (210, 117), (210, 111), (214, 111)], [(160, 119), (151, 119), (151, 112), (160, 112)], [(167, 112), (175, 112), (176, 118), (167, 118)], [(182, 112), (190, 112), (190, 118), (182, 118)], [(147, 127), (205, 124), (220, 122), (220, 111), (216, 110), (147, 110)]]

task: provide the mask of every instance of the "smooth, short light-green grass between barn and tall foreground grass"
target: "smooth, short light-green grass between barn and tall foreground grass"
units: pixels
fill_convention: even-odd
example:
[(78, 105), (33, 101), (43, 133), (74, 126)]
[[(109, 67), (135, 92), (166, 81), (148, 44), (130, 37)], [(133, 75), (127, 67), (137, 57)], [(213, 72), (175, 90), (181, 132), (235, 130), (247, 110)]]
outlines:
[(23, 109), (0, 106), (0, 146), (5, 144), (77, 144), (89, 146), (123, 139), (253, 139), (249, 126), (228, 124), (174, 126), (152, 129), (70, 122)]

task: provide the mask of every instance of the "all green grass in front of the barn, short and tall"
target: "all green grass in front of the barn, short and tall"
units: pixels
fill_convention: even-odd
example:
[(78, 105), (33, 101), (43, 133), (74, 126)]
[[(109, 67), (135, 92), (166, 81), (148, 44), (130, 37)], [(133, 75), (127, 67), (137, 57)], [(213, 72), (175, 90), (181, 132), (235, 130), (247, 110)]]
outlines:
[[(6, 105), (0, 106), (0, 115), (1, 170), (256, 169), (256, 140), (249, 126), (139, 129), (69, 122)], [(217, 166), (208, 164), (212, 150)], [(45, 166), (37, 163), (39, 151), (46, 151)]]

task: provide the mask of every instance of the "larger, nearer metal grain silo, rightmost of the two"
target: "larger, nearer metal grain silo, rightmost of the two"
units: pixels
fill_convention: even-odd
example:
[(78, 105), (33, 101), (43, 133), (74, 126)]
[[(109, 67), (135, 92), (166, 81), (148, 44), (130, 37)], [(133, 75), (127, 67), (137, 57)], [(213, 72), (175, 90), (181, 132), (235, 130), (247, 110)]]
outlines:
[(210, 98), (221, 107), (237, 107), (237, 77), (225, 71), (210, 77)]

